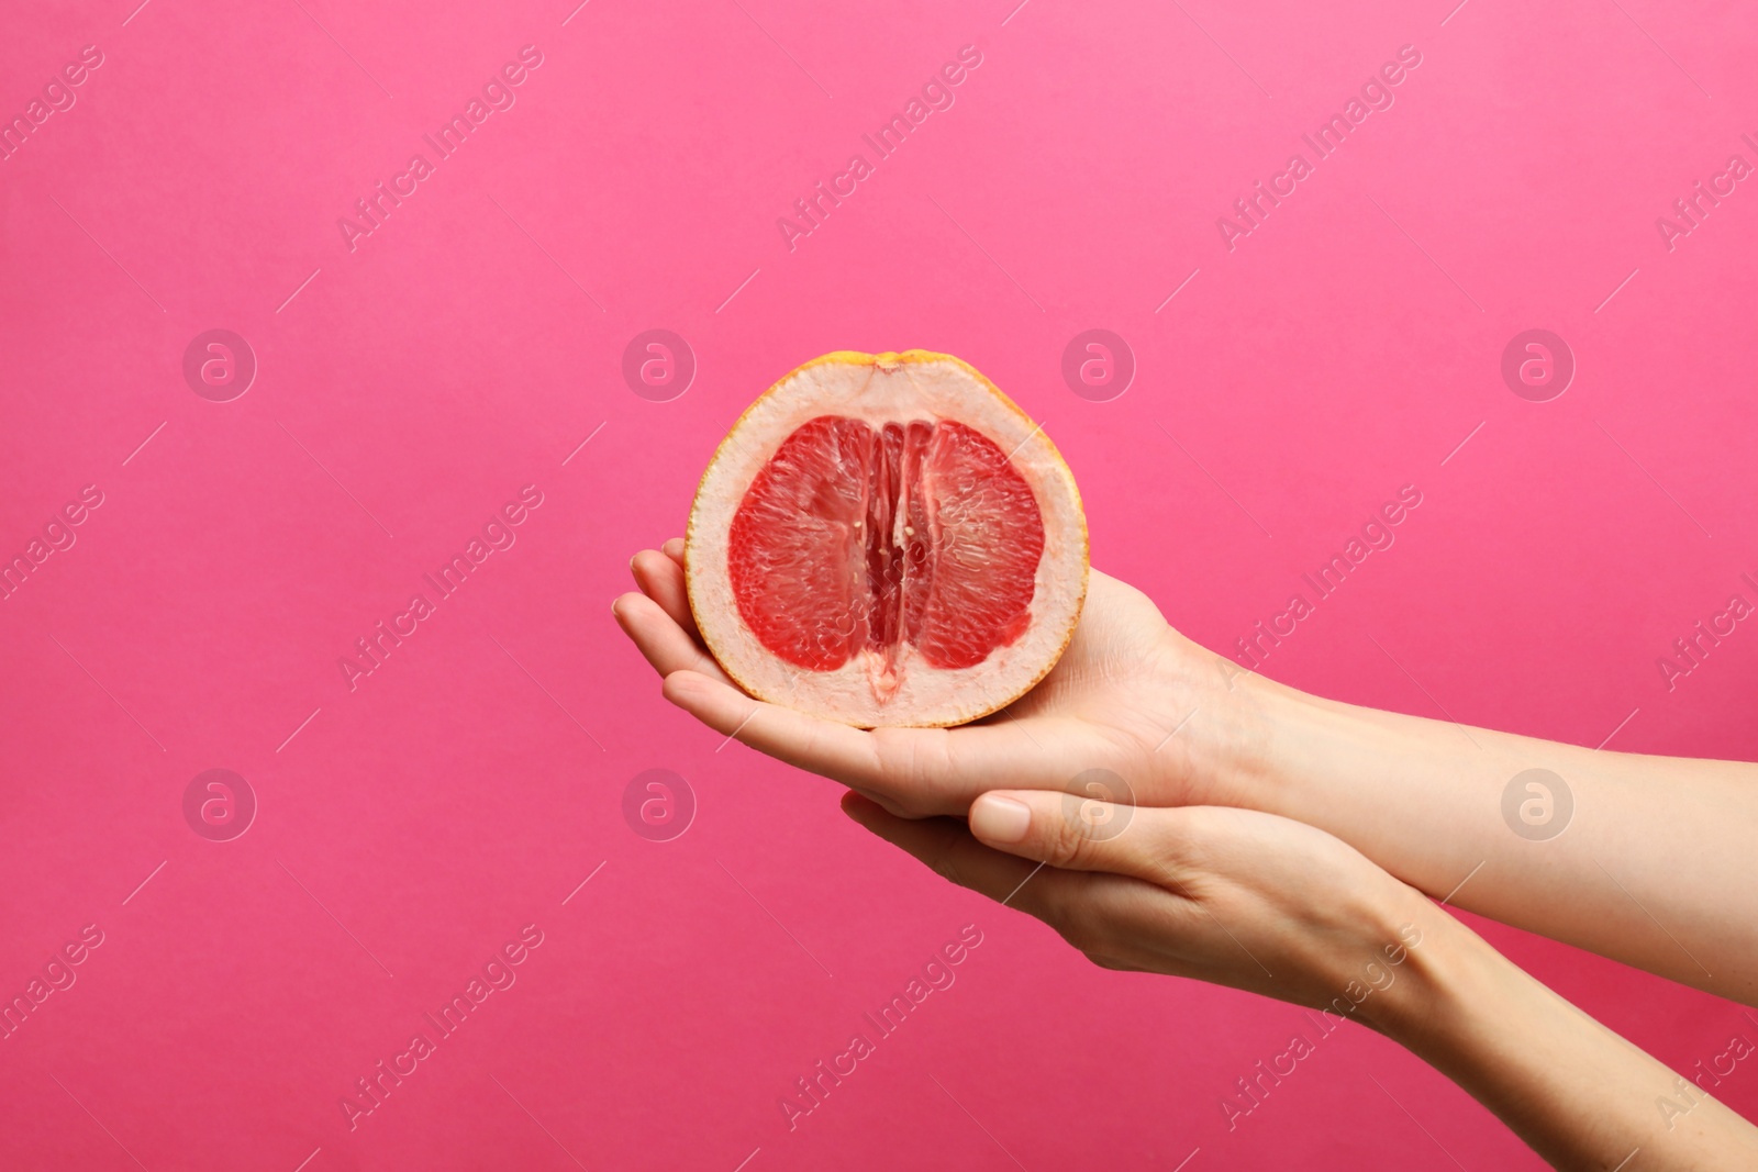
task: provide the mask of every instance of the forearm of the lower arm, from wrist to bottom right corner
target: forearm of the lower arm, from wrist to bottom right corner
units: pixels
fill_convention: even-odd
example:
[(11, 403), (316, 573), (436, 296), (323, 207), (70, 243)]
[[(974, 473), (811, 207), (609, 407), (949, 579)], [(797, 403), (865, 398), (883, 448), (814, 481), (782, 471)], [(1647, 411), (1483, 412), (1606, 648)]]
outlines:
[[(1371, 1024), (1559, 1168), (1753, 1168), (1758, 1128), (1440, 908)], [(1635, 1160), (1631, 1154), (1640, 1153)]]

